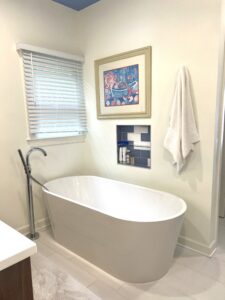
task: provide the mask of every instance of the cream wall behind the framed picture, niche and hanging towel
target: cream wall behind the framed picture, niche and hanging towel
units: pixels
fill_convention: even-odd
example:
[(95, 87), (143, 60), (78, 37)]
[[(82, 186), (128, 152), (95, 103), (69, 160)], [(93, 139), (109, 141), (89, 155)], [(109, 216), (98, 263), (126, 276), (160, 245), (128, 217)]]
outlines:
[[(219, 51), (219, 0), (104, 0), (81, 13), (85, 28), (85, 90), (89, 137), (86, 173), (98, 174), (174, 193), (188, 204), (180, 241), (209, 253), (214, 241), (212, 174)], [(152, 117), (97, 120), (94, 60), (152, 46)], [(186, 65), (192, 77), (201, 142), (177, 175), (163, 149), (175, 76)], [(116, 163), (116, 125), (152, 126), (152, 168)]]

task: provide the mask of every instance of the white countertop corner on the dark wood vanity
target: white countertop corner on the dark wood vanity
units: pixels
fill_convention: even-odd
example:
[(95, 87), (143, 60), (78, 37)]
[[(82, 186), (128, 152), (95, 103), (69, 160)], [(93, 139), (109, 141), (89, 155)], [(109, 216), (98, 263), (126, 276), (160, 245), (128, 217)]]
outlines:
[(0, 271), (37, 252), (34, 242), (0, 221)]

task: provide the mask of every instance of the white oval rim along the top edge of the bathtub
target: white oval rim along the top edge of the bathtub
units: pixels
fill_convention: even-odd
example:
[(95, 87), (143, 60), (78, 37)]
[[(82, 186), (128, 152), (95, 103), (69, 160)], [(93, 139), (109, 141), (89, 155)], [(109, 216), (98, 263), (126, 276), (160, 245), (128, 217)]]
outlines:
[(73, 175), (73, 176), (64, 176), (64, 177), (58, 177), (58, 178), (55, 178), (55, 179), (52, 179), (50, 181), (47, 181), (45, 183), (45, 185), (47, 185), (48, 183), (52, 183), (56, 180), (59, 180), (59, 179), (67, 179), (67, 178), (74, 178), (74, 177), (89, 177), (89, 178), (101, 178), (101, 179), (106, 179), (106, 180), (110, 180), (110, 181), (113, 181), (113, 182), (116, 182), (116, 183), (121, 183), (121, 184), (126, 184), (126, 185), (130, 185), (130, 186), (133, 186), (133, 187), (136, 187), (136, 188), (141, 188), (141, 189), (144, 189), (144, 190), (151, 190), (153, 192), (157, 192), (161, 195), (169, 195), (169, 196), (172, 196), (172, 197), (175, 197), (177, 200), (179, 200), (182, 204), (182, 208), (180, 210), (179, 213), (176, 213), (176, 214), (173, 214), (172, 216), (168, 217), (168, 218), (163, 218), (163, 219), (159, 219), (159, 220), (149, 220), (149, 221), (140, 221), (140, 220), (131, 220), (131, 219), (127, 219), (127, 218), (119, 218), (119, 217), (116, 217), (114, 215), (110, 215), (108, 213), (105, 213), (104, 211), (100, 210), (100, 209), (96, 209), (95, 207), (93, 206), (90, 206), (90, 205), (87, 205), (87, 204), (84, 204), (84, 203), (81, 203), (81, 202), (78, 202), (78, 201), (75, 201), (71, 198), (68, 198), (68, 197), (64, 197), (64, 196), (61, 196), (59, 194), (56, 194), (56, 193), (53, 193), (49, 190), (46, 190), (45, 188), (42, 187), (42, 191), (46, 194), (49, 194), (49, 195), (52, 195), (52, 196), (56, 196), (56, 197), (61, 197), (63, 200), (66, 200), (68, 202), (72, 202), (72, 203), (76, 203), (78, 205), (81, 205), (83, 207), (86, 207), (86, 208), (89, 208), (89, 209), (92, 209), (92, 210), (95, 210), (97, 211), (98, 213), (101, 213), (103, 215), (106, 215), (106, 216), (109, 216), (111, 218), (114, 218), (114, 219), (117, 219), (117, 220), (120, 220), (120, 221), (126, 221), (126, 222), (136, 222), (136, 223), (158, 223), (158, 222), (165, 222), (165, 221), (169, 221), (169, 220), (173, 220), (173, 219), (176, 219), (178, 217), (181, 217), (182, 215), (184, 215), (187, 211), (187, 204), (186, 202), (174, 195), (174, 194), (171, 194), (171, 193), (168, 193), (168, 192), (164, 192), (164, 191), (161, 191), (161, 190), (156, 190), (156, 189), (152, 189), (152, 188), (148, 188), (148, 187), (144, 187), (144, 186), (141, 186), (141, 185), (137, 185), (137, 184), (133, 184), (133, 183), (127, 183), (127, 182), (124, 182), (124, 181), (120, 181), (120, 180), (115, 180), (115, 179), (111, 179), (111, 178), (106, 178), (106, 177), (101, 177), (101, 176), (95, 176), (95, 175)]

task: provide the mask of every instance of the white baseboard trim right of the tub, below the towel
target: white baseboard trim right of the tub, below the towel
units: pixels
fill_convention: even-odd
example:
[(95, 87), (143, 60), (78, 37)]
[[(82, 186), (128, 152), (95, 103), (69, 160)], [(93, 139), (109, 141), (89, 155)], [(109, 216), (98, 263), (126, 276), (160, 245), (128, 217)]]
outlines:
[(205, 244), (199, 243), (195, 240), (192, 240), (190, 238), (180, 236), (178, 238), (177, 244), (181, 247), (191, 249), (202, 255), (212, 257), (216, 251), (217, 242), (216, 242), (216, 240), (214, 240), (214, 241), (212, 241), (212, 243), (210, 245), (205, 245)]

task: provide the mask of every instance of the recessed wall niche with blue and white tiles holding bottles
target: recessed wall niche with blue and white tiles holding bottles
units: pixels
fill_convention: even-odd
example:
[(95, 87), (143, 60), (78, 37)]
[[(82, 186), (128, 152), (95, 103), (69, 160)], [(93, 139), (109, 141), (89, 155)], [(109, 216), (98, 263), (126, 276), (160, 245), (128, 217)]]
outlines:
[(151, 126), (117, 125), (117, 162), (151, 168)]

